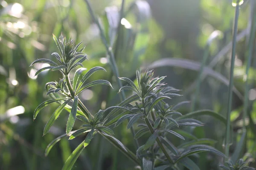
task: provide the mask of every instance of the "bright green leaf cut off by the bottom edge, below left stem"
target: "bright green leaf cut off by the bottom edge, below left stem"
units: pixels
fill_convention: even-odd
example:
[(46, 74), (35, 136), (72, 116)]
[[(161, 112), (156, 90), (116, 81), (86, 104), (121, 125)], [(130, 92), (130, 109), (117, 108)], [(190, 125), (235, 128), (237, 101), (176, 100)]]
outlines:
[(83, 150), (84, 150), (84, 141), (81, 142), (81, 144), (79, 144), (78, 147), (76, 147), (76, 149), (71, 153), (71, 155), (68, 157), (67, 161), (65, 162), (62, 170), (71, 170)]

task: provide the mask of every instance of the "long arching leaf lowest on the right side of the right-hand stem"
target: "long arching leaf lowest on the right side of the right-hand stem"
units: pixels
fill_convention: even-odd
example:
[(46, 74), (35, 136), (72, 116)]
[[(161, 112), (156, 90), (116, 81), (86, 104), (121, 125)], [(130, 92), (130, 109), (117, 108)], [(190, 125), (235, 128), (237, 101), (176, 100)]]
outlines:
[(201, 144), (201, 145), (194, 145), (192, 147), (185, 148), (185, 152), (183, 152), (181, 154), (181, 156), (178, 159), (176, 159), (175, 163), (179, 162), (181, 159), (183, 159), (189, 155), (192, 155), (195, 153), (200, 153), (200, 152), (206, 152), (206, 151), (215, 153), (218, 156), (226, 157), (223, 153), (216, 150), (214, 147), (210, 147), (210, 146)]

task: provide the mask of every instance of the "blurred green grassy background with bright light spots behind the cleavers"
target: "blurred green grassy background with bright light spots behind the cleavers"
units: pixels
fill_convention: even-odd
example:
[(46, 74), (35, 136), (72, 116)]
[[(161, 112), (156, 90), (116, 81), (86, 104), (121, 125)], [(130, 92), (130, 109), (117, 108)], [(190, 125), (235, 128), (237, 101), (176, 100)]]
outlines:
[[(240, 9), (238, 44), (234, 72), (233, 145), (241, 136), (241, 111), (244, 97), (244, 74), (247, 44), (255, 0), (245, 0)], [(209, 55), (195, 109), (211, 109), (226, 116), (227, 90), (231, 57), (232, 27), (235, 8), (231, 0), (125, 0), (124, 16), (119, 24), (119, 9), (122, 0), (90, 0), (99, 16), (108, 44), (113, 49), (121, 77), (135, 79), (135, 71), (142, 67), (154, 69), (155, 76), (167, 76), (166, 83), (183, 91), (182, 97), (171, 103), (189, 101), (195, 94), (200, 65), (209, 45)], [(76, 43), (83, 41), (88, 61), (85, 68), (106, 68), (107, 73), (96, 73), (93, 79), (109, 80), (114, 90), (97, 86), (85, 90), (80, 98), (87, 108), (96, 113), (99, 109), (120, 102), (118, 86), (113, 76), (105, 46), (99, 30), (93, 23), (84, 0), (0, 0), (0, 170), (58, 170), (61, 169), (72, 150), (83, 138), (61, 140), (49, 156), (44, 156), (47, 145), (65, 133), (68, 114), (62, 113), (43, 135), (44, 125), (55, 111), (57, 104), (50, 105), (33, 122), (35, 108), (46, 96), (44, 85), (58, 81), (61, 74), (35, 72), (47, 64), (30, 64), (39, 58), (55, 60), (52, 52), (58, 52), (52, 34), (61, 32), (73, 37)], [(209, 37), (212, 37), (209, 39)], [(243, 158), (253, 164), (256, 157), (256, 48), (248, 75), (249, 112), (246, 119), (248, 133), (243, 146)], [(127, 96), (129, 93), (127, 93)], [(191, 105), (180, 108), (181, 113), (191, 111)], [(66, 112), (66, 111), (64, 111)], [(210, 117), (200, 117), (204, 127), (196, 127), (193, 134), (198, 138), (216, 140), (214, 145), (223, 151), (225, 126)], [(81, 122), (76, 123), (75, 129)], [(134, 150), (133, 137), (126, 125), (114, 129), (117, 138)], [(140, 139), (143, 143), (148, 136)], [(176, 144), (179, 144), (177, 140)], [(201, 153), (201, 170), (218, 170), (218, 158)], [(77, 170), (132, 170), (135, 164), (119, 153), (102, 136), (96, 136), (73, 169)]]

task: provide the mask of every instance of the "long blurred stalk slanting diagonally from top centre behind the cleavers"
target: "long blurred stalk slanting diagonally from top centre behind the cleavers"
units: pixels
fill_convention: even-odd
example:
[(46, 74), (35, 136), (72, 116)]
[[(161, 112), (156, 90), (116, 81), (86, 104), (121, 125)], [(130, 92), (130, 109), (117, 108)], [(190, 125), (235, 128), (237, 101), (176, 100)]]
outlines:
[[(93, 9), (92, 9), (92, 7), (90, 5), (89, 0), (84, 0), (84, 1), (87, 4), (88, 11), (89, 11), (91, 17), (93, 18), (93, 21), (96, 23), (96, 25), (99, 28), (100, 37), (101, 37), (101, 40), (102, 40), (103, 44), (105, 45), (106, 51), (107, 51), (107, 53), (108, 53), (108, 55), (110, 57), (111, 68), (113, 69), (113, 73), (116, 76), (117, 84), (118, 84), (119, 88), (122, 88), (122, 83), (121, 83), (121, 81), (119, 79), (119, 72), (118, 72), (118, 68), (117, 68), (117, 65), (116, 65), (116, 60), (115, 60), (112, 48), (109, 47), (109, 45), (108, 45), (108, 42), (107, 42), (106, 37), (104, 35), (104, 31), (103, 31), (101, 25), (99, 24), (99, 20), (96, 19), (96, 16), (95, 16), (95, 14), (93, 12)], [(124, 4), (122, 4), (122, 6), (123, 5)], [(121, 98), (122, 101), (125, 100), (126, 96), (125, 96), (125, 92), (124, 91), (120, 92), (120, 98)], [(135, 131), (134, 131), (133, 127), (131, 127), (131, 133), (132, 133), (133, 136), (135, 136)], [(136, 144), (136, 149), (137, 149), (139, 147), (139, 142), (137, 141), (137, 139), (135, 139), (135, 144)]]

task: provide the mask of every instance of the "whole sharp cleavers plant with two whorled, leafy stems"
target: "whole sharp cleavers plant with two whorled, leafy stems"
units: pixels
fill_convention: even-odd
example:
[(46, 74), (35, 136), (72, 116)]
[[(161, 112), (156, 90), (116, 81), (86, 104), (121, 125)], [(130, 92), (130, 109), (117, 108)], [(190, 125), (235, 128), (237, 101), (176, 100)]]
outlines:
[[(93, 73), (99, 70), (105, 71), (105, 69), (94, 67), (85, 73), (86, 68), (78, 68), (73, 80), (70, 80), (70, 72), (78, 65), (82, 66), (82, 62), (87, 57), (86, 54), (82, 53), (84, 48), (79, 50), (78, 48), (81, 42), (75, 45), (72, 39), (66, 40), (63, 35), (59, 39), (53, 35), (53, 39), (60, 51), (59, 54), (52, 54), (56, 57), (58, 64), (49, 59), (37, 59), (31, 65), (37, 62), (48, 63), (50, 66), (42, 68), (36, 75), (47, 69), (52, 71), (58, 70), (62, 74), (62, 79), (59, 82), (48, 82), (46, 84), (47, 95), (51, 99), (43, 102), (35, 109), (34, 119), (47, 105), (54, 102), (60, 104), (45, 125), (43, 132), (45, 135), (49, 132), (49, 129), (61, 111), (65, 109), (70, 112), (67, 120), (66, 134), (59, 136), (47, 146), (46, 155), (53, 145), (65, 136), (69, 136), (69, 139), (74, 139), (77, 136), (85, 135), (84, 141), (76, 147), (65, 162), (63, 170), (72, 169), (76, 159), (84, 147), (90, 144), (96, 133), (104, 136), (105, 139), (124, 153), (125, 156), (134, 161), (135, 164), (143, 167), (144, 170), (164, 170), (166, 168), (181, 170), (183, 167), (190, 170), (199, 170), (199, 167), (192, 161), (190, 156), (204, 151), (225, 157), (223, 153), (209, 146), (214, 144), (213, 140), (198, 139), (189, 132), (181, 129), (181, 127), (203, 126), (202, 122), (192, 119), (195, 116), (207, 114), (222, 120), (222, 122), (225, 122), (225, 118), (209, 110), (195, 111), (184, 116), (180, 112), (175, 111), (176, 108), (186, 102), (169, 106), (166, 100), (171, 99), (171, 97), (181, 96), (180, 94), (176, 94), (179, 90), (169, 86), (166, 87), (166, 84), (162, 83), (165, 77), (153, 78), (153, 71), (147, 70), (145, 73), (142, 73), (141, 69), (137, 70), (137, 85), (131, 79), (125, 77), (119, 78), (125, 81), (125, 83), (128, 83), (128, 85), (120, 88), (119, 92), (129, 90), (133, 92), (133, 95), (116, 106), (91, 114), (79, 99), (79, 94), (95, 85), (108, 85), (112, 88), (111, 83), (106, 80), (87, 82)], [(72, 103), (72, 106), (69, 103)], [(76, 119), (84, 122), (84, 125), (79, 130), (72, 131)], [(136, 154), (116, 139), (113, 130), (111, 130), (113, 125), (117, 127), (126, 119), (129, 120), (128, 129), (135, 124), (137, 125), (138, 130), (134, 135), (135, 139), (139, 139), (146, 133), (151, 133), (148, 140), (137, 148)], [(177, 130), (177, 128), (179, 129)], [(178, 138), (181, 141), (185, 139), (192, 140), (180, 142), (181, 144), (176, 147), (172, 143), (172, 138)]]

